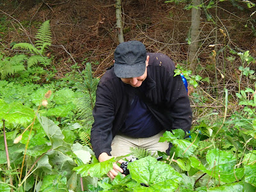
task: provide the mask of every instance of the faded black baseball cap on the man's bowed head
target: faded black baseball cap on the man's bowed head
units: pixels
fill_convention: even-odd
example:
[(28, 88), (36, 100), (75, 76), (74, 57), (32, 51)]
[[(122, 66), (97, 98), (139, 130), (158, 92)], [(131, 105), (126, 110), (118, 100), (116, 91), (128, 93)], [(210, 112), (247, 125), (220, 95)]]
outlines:
[(140, 77), (146, 69), (147, 51), (139, 41), (123, 42), (114, 53), (114, 72), (117, 77)]

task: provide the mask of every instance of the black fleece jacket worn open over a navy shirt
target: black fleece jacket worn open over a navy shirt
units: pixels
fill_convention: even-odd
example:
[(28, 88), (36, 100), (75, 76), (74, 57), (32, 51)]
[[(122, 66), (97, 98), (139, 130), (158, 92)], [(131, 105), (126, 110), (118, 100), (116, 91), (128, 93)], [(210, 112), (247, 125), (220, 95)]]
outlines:
[(145, 101), (164, 129), (189, 131), (192, 112), (188, 93), (180, 76), (175, 76), (175, 66), (168, 56), (148, 53), (147, 78), (134, 88), (115, 76), (114, 68), (106, 71), (97, 87), (91, 143), (95, 156), (102, 152), (111, 155), (111, 142), (124, 124), (135, 94)]

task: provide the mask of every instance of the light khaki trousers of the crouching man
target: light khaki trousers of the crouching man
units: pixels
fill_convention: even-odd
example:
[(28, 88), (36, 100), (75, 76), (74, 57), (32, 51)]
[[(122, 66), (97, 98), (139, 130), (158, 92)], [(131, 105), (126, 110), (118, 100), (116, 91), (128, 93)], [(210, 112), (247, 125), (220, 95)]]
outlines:
[[(149, 138), (131, 138), (129, 136), (118, 134), (111, 143), (111, 156), (125, 156), (131, 152), (131, 147), (139, 147), (150, 150), (151, 154), (154, 154), (155, 152), (157, 154), (157, 150), (166, 152), (169, 147), (169, 143), (166, 141), (163, 143), (158, 142), (159, 138), (163, 136), (164, 132), (165, 131), (161, 131)], [(129, 159), (129, 157), (127, 157), (127, 159)]]

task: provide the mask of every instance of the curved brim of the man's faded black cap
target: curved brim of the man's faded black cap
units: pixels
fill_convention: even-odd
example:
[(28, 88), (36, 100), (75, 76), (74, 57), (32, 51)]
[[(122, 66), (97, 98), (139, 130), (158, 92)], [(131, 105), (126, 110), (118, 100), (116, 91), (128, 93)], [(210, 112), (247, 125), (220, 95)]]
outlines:
[(145, 70), (145, 61), (140, 64), (136, 63), (136, 65), (127, 65), (116, 62), (114, 64), (114, 72), (116, 76), (120, 78), (140, 77), (145, 73)]

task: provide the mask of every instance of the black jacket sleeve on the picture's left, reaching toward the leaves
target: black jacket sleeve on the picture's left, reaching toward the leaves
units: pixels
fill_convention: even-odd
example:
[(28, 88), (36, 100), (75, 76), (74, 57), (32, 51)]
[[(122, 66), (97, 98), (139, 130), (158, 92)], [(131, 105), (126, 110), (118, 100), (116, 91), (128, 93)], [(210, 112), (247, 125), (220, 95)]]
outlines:
[(94, 123), (91, 131), (92, 148), (97, 159), (102, 152), (110, 156), (113, 140), (112, 127), (115, 119), (115, 97), (112, 95), (111, 83), (104, 83), (101, 80), (97, 87), (96, 102), (93, 108)]

